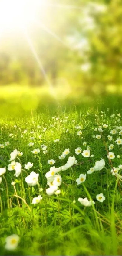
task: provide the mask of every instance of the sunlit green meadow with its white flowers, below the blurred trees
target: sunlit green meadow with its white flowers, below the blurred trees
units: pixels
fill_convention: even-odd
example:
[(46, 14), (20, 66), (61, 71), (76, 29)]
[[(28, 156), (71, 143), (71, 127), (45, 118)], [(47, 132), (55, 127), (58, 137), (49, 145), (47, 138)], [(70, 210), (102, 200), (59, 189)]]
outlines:
[(120, 98), (37, 95), (1, 98), (0, 255), (121, 255)]

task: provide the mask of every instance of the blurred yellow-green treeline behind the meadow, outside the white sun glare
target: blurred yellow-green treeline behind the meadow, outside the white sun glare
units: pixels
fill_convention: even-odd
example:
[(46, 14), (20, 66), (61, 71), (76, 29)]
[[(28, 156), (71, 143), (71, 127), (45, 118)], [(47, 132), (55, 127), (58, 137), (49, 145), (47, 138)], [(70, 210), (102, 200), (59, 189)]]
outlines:
[[(121, 0), (51, 0), (26, 31), (53, 86), (60, 79), (86, 91), (121, 85)], [(0, 85), (13, 83), (46, 83), (22, 31), (0, 37)]]

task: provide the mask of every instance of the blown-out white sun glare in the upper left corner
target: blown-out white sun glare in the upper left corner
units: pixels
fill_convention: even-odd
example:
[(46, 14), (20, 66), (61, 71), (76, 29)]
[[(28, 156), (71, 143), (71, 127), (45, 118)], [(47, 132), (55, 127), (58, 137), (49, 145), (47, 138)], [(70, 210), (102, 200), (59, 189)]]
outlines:
[(0, 0), (0, 35), (32, 26), (45, 6), (46, 0)]

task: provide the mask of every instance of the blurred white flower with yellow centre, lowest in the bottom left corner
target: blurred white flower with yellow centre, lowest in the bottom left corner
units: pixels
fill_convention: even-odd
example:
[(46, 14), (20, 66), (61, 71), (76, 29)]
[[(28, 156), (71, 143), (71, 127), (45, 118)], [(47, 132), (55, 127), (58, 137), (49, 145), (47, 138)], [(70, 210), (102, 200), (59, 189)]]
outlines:
[(11, 236), (7, 236), (5, 239), (5, 249), (7, 250), (15, 250), (18, 246), (19, 242), (19, 236), (16, 234), (13, 234)]

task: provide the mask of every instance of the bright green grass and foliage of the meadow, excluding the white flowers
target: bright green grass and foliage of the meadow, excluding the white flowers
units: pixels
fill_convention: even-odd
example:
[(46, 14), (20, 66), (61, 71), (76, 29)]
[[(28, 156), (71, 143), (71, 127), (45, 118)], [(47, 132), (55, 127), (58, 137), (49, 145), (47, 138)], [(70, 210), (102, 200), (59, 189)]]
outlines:
[[(1, 108), (0, 143), (5, 144), (9, 141), (10, 145), (0, 149), (0, 167), (6, 166), (7, 169), (10, 153), (15, 148), (20, 150), (23, 155), (16, 161), (21, 161), (22, 169), (28, 161), (33, 163), (33, 167), (27, 170), (28, 175), (31, 171), (39, 173), (39, 186), (44, 190), (41, 192), (43, 197), (41, 202), (31, 204), (32, 199), (39, 194), (38, 185), (28, 186), (25, 182), (27, 176), (25, 171), (22, 171), (18, 178), (14, 176), (15, 171), (6, 171), (4, 175), (6, 180), (2, 178), (0, 184), (0, 255), (121, 255), (122, 186), (121, 180), (110, 173), (111, 164), (106, 151), (106, 147), (108, 149), (108, 146), (113, 143), (114, 149), (111, 151), (116, 157), (112, 160), (112, 164), (115, 167), (122, 164), (121, 145), (118, 146), (114, 142), (119, 135), (113, 135), (112, 141), (107, 139), (110, 130), (122, 124), (121, 117), (120, 122), (116, 119), (117, 113), (121, 114), (122, 107), (117, 98), (84, 99), (82, 103), (78, 101), (77, 104), (70, 104), (70, 100), (67, 100), (59, 103), (58, 106), (56, 106), (57, 103), (44, 106), (43, 102), (43, 106), (40, 104), (33, 111), (29, 109), (23, 111), (20, 107), (21, 103), (14, 104), (12, 98), (9, 100), (8, 110), (5, 104), (4, 102), (3, 112)], [(15, 110), (12, 104), (14, 108), (16, 107)], [(110, 108), (108, 112), (107, 107)], [(116, 111), (117, 108), (118, 111)], [(103, 116), (101, 116), (101, 110), (104, 111)], [(113, 113), (115, 117), (110, 118)], [(95, 114), (98, 117), (95, 117)], [(58, 120), (54, 123), (51, 118), (53, 116), (60, 117), (60, 120), (64, 120), (67, 116), (68, 121)], [(73, 119), (75, 123), (72, 123)], [(98, 131), (94, 132), (94, 128), (104, 123), (108, 124), (108, 128), (104, 129), (102, 138), (93, 139), (92, 135), (100, 134)], [(54, 127), (50, 127), (50, 124)], [(83, 139), (77, 135), (77, 130), (74, 128), (77, 124), (81, 125)], [(14, 125), (17, 127), (14, 128)], [(37, 128), (38, 125), (41, 128)], [(47, 127), (46, 132), (43, 132), (44, 127)], [(25, 129), (28, 132), (21, 138)], [(69, 132), (66, 133), (67, 129)], [(31, 142), (30, 131), (34, 131), (31, 136), (35, 137), (32, 148), (28, 146)], [(13, 133), (13, 138), (9, 137), (10, 133)], [(41, 139), (38, 139), (38, 135), (42, 135)], [(57, 138), (60, 142), (54, 143), (54, 139)], [(84, 141), (87, 142), (86, 146), (82, 145)], [(46, 155), (41, 150), (43, 143), (48, 147)], [(78, 146), (82, 151), (90, 146), (94, 157), (86, 158), (81, 154), (76, 155), (75, 149)], [(35, 148), (40, 149), (36, 158), (31, 153)], [(65, 148), (70, 149), (70, 154), (64, 160), (60, 160), (58, 156)], [(45, 192), (47, 184), (45, 173), (50, 169), (47, 164), (48, 159), (56, 160), (55, 166), (59, 167), (73, 155), (78, 165), (60, 172), (61, 194), (48, 196)], [(117, 158), (117, 155), (120, 155), (120, 158)], [(76, 179), (79, 175), (87, 173), (90, 167), (93, 167), (101, 158), (105, 160), (105, 168), (94, 171), (91, 175), (87, 174), (86, 181), (77, 186)], [(121, 170), (119, 173), (121, 174)], [(14, 180), (16, 191), (11, 185)], [(96, 195), (99, 193), (103, 193), (106, 197), (103, 203), (96, 200)], [(92, 198), (95, 202), (94, 206), (84, 207), (77, 201), (79, 197)], [(12, 252), (6, 251), (5, 238), (13, 233), (20, 236), (18, 248)]]

